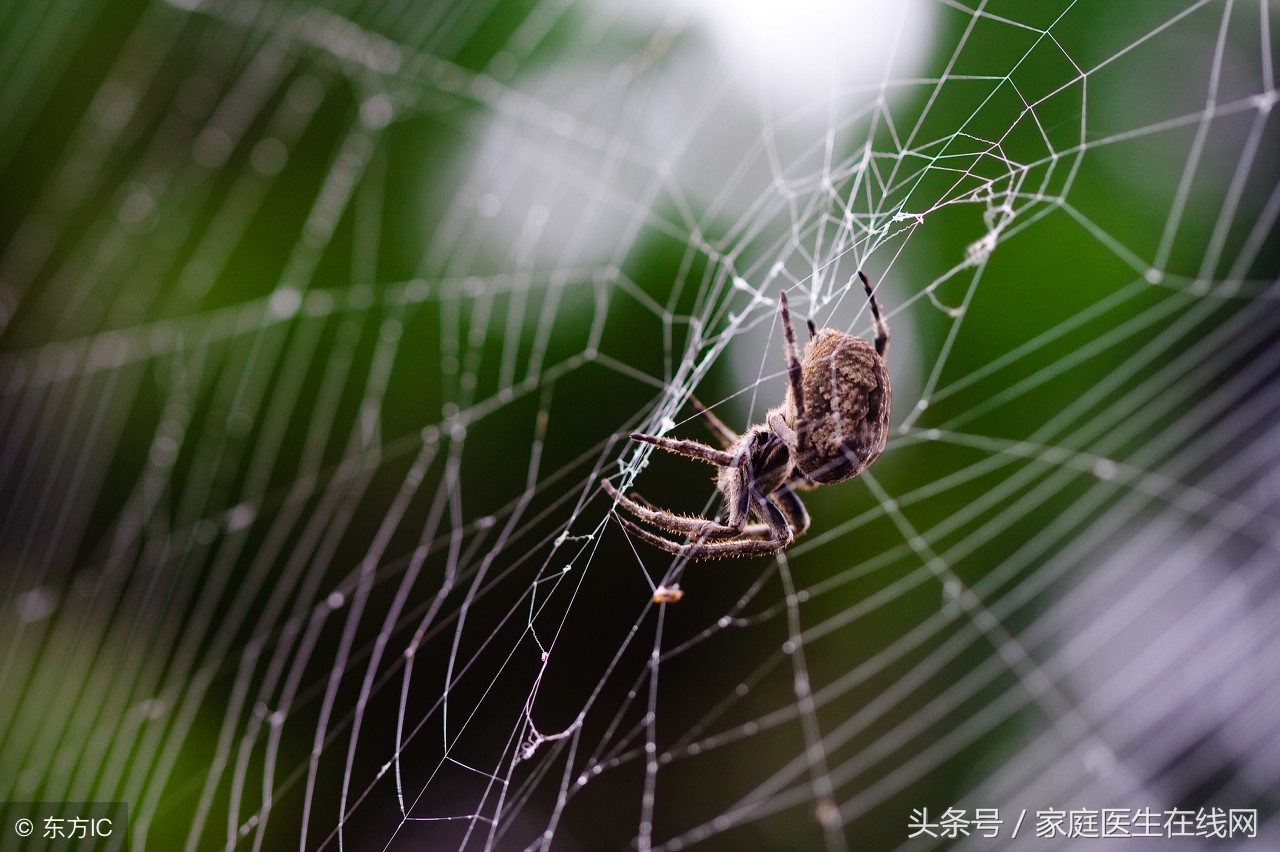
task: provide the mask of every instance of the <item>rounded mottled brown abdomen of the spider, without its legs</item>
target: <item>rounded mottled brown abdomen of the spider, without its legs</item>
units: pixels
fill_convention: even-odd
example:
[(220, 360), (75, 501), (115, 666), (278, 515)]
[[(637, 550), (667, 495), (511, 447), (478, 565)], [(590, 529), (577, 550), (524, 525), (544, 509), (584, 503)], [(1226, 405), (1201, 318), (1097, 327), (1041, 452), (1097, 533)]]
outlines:
[(823, 329), (805, 348), (804, 413), (787, 391), (795, 466), (814, 484), (844, 482), (884, 450), (892, 390), (884, 359), (867, 340)]

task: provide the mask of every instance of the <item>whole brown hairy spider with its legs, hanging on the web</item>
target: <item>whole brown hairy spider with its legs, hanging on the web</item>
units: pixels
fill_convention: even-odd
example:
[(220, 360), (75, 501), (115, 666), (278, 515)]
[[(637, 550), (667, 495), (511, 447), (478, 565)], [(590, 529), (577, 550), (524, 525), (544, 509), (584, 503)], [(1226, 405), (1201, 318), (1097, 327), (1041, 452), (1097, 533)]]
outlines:
[[(700, 441), (631, 432), (634, 441), (653, 444), (668, 453), (709, 462), (719, 468), (716, 485), (724, 495), (724, 523), (666, 512), (640, 495), (620, 493), (608, 480), (604, 490), (637, 519), (690, 539), (687, 544), (649, 532), (628, 518), (622, 525), (649, 544), (689, 559), (749, 556), (777, 553), (809, 528), (809, 513), (796, 495), (858, 476), (884, 449), (892, 393), (884, 353), (888, 324), (867, 275), (876, 326), (876, 344), (837, 329), (815, 330), (809, 321), (804, 359), (796, 353), (787, 294), (778, 294), (782, 340), (787, 358), (787, 395), (769, 409), (764, 423), (735, 435), (696, 399), (694, 408), (724, 449)], [(748, 523), (754, 516), (759, 522)]]

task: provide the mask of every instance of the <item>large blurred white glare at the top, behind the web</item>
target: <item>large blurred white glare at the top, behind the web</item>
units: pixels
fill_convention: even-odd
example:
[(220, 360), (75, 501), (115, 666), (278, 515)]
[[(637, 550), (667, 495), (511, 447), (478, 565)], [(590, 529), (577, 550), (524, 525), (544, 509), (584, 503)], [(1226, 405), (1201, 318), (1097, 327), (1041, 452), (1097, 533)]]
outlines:
[[(928, 4), (602, 4), (553, 63), (516, 64), (506, 82), (521, 109), (497, 110), (463, 155), (470, 206), (454, 198), (425, 221), (475, 229), (499, 267), (517, 255), (524, 267), (617, 264), (637, 221), (737, 221), (781, 197), (780, 180), (829, 193), (828, 156), (860, 150), (869, 107), (895, 95), (882, 81), (922, 73), (933, 15)], [(535, 206), (545, 217), (530, 241)], [(759, 216), (762, 243), (791, 226), (786, 210)]]

